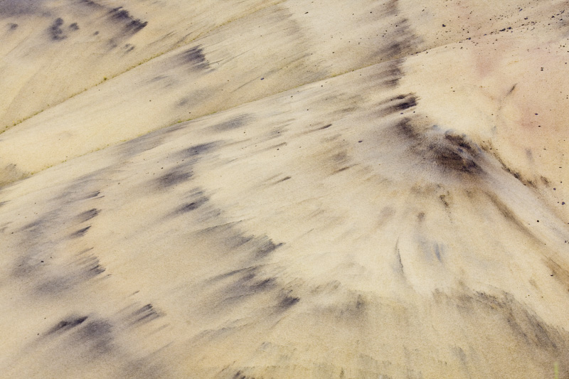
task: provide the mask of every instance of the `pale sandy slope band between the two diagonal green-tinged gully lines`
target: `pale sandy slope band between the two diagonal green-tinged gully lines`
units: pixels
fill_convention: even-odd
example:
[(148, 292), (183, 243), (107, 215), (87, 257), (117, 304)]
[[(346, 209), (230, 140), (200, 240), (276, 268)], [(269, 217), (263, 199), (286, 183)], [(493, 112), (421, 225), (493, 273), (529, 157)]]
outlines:
[[(421, 48), (398, 14), (397, 1), (266, 5), (9, 129), (0, 142), (0, 183), (174, 122)], [(134, 45), (131, 38), (125, 41)], [(71, 41), (63, 43), (60, 50), (76, 50)], [(80, 56), (87, 64), (92, 61)], [(61, 76), (84, 81), (80, 75)], [(51, 95), (38, 97), (43, 101)]]

